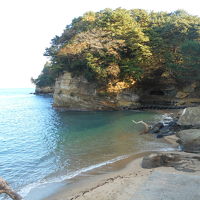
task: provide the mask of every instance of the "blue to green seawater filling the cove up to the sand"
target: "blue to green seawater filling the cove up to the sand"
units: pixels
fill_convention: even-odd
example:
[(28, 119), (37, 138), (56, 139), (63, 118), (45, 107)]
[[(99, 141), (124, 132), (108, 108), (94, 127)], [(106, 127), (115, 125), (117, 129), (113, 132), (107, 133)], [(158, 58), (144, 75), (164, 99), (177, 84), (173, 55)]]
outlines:
[[(152, 112), (62, 112), (33, 89), (0, 89), (0, 176), (28, 199), (36, 186), (61, 182), (132, 153), (168, 148), (139, 135), (161, 119)], [(36, 199), (36, 198), (35, 198)]]

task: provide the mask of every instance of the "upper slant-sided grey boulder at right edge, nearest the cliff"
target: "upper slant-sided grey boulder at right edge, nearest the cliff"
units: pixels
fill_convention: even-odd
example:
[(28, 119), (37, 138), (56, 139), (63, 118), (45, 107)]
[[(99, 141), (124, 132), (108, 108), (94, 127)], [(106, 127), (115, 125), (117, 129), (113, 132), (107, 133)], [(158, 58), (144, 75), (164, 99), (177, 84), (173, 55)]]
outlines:
[(185, 108), (177, 124), (180, 126), (200, 127), (200, 106)]

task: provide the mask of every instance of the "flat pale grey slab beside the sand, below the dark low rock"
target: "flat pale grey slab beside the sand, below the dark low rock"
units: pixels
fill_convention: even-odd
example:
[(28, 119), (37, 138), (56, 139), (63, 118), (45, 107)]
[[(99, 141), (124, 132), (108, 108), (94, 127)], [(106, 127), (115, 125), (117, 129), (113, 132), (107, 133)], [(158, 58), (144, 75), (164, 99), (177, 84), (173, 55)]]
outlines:
[(130, 200), (198, 200), (199, 173), (154, 171)]

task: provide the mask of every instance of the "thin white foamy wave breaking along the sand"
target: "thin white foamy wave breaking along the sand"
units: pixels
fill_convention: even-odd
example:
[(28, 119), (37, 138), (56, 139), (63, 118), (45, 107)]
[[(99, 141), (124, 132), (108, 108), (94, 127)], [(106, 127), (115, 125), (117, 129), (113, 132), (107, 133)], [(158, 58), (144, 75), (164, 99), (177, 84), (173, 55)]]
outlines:
[(82, 168), (82, 169), (77, 170), (75, 172), (72, 172), (72, 173), (70, 173), (68, 175), (64, 175), (64, 176), (61, 176), (61, 177), (52, 178), (50, 180), (42, 180), (42, 181), (38, 181), (38, 182), (35, 182), (35, 183), (31, 183), (31, 184), (28, 184), (25, 187), (23, 187), (19, 191), (19, 193), (20, 193), (20, 195), (22, 195), (23, 197), (25, 197), (34, 188), (37, 188), (37, 187), (44, 187), (45, 188), (46, 184), (63, 182), (65, 180), (72, 179), (72, 178), (74, 178), (74, 177), (76, 177), (76, 176), (78, 176), (78, 175), (80, 175), (82, 173), (91, 171), (93, 169), (97, 169), (99, 167), (103, 167), (103, 166), (108, 165), (108, 164), (115, 163), (117, 161), (126, 159), (128, 157), (129, 157), (129, 155), (119, 156), (119, 157), (116, 157), (114, 159), (102, 162), (102, 163), (98, 163), (98, 164), (95, 164), (95, 165), (91, 165), (89, 167)]

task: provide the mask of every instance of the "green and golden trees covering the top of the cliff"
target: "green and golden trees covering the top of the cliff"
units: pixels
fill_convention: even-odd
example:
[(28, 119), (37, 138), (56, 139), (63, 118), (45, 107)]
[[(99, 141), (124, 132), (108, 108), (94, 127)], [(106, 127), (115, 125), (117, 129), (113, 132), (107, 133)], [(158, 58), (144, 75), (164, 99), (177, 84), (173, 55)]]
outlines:
[(50, 61), (33, 80), (40, 87), (54, 84), (63, 71), (101, 86), (154, 76), (198, 80), (200, 18), (182, 10), (87, 12), (55, 36), (44, 55)]

